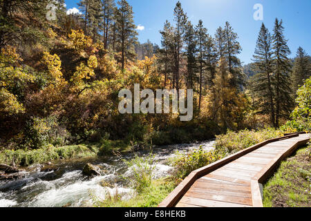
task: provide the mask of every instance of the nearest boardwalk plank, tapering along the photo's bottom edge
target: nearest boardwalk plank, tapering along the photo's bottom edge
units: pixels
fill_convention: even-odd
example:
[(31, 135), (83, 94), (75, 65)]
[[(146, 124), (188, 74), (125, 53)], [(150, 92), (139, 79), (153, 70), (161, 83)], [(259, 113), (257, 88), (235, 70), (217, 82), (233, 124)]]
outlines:
[(204, 206), (204, 207), (250, 207), (245, 204), (236, 204), (231, 202), (221, 202), (216, 200), (205, 200), (205, 199), (198, 199), (198, 198), (189, 198), (184, 196), (180, 202), (185, 204), (193, 204), (196, 206)]

